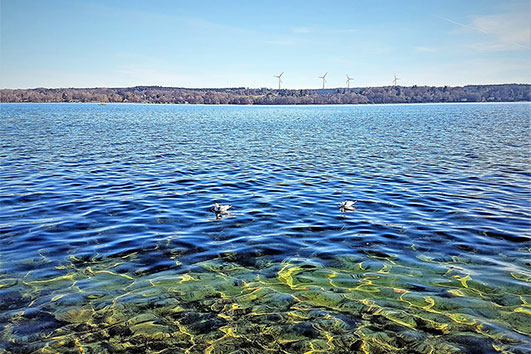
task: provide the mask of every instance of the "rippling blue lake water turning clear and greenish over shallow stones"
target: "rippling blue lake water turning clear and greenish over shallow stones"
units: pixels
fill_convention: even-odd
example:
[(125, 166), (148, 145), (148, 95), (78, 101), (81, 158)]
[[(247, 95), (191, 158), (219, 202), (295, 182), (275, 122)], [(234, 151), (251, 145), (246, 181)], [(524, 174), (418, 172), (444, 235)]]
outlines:
[(0, 108), (0, 352), (529, 352), (529, 104)]

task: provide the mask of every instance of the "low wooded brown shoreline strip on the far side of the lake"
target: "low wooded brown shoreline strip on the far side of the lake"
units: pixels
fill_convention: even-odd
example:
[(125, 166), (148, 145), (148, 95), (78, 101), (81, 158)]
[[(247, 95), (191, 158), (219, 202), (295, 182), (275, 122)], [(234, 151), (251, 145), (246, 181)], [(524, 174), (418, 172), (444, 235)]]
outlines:
[(136, 102), (189, 104), (370, 104), (429, 102), (531, 101), (531, 85), (470, 85), (464, 87), (384, 86), (318, 90), (160, 86), (129, 88), (3, 89), (0, 102)]

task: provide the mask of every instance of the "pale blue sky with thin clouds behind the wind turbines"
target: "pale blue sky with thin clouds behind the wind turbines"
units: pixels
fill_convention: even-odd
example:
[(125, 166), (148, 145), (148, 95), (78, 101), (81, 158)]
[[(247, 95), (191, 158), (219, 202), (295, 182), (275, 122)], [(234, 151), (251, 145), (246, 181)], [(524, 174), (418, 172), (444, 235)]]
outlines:
[(529, 0), (0, 0), (0, 87), (530, 83)]

